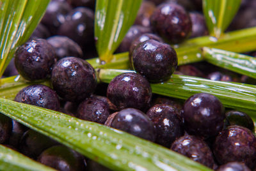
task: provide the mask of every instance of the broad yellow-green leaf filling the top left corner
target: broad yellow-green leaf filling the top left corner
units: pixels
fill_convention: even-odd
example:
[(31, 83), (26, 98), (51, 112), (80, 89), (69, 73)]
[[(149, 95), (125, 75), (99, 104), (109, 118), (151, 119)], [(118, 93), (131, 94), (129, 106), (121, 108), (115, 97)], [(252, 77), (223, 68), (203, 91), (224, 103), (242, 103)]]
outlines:
[(0, 77), (33, 33), (50, 0), (0, 0)]

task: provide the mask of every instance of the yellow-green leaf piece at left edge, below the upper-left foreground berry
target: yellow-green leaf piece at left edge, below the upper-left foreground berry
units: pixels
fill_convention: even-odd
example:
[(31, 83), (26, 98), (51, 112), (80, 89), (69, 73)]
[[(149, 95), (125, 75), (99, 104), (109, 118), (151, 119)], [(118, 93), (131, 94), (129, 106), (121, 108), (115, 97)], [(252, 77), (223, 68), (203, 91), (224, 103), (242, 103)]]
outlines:
[(24, 87), (33, 84), (44, 84), (48, 87), (51, 87), (51, 83), (49, 80), (42, 80), (38, 82), (28, 82), (24, 80), (24, 78), (20, 77), (19, 75), (3, 78), (1, 81), (0, 87), (0, 97), (13, 100), (17, 93)]

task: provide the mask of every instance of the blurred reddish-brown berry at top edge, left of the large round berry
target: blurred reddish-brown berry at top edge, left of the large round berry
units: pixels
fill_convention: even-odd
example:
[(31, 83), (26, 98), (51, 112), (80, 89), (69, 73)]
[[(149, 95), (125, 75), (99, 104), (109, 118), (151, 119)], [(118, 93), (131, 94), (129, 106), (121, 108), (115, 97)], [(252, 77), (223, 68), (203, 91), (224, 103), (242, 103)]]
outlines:
[(156, 6), (150, 1), (143, 1), (140, 6), (140, 10), (137, 13), (134, 24), (144, 27), (150, 27), (150, 16), (155, 10)]

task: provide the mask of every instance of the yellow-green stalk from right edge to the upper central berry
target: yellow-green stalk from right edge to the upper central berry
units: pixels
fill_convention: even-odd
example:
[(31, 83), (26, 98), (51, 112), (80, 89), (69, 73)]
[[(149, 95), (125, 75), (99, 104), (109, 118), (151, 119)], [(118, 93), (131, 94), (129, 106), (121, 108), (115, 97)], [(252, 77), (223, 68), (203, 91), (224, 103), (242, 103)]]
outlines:
[(175, 48), (179, 57), (178, 64), (203, 61), (202, 47), (220, 48), (239, 53), (256, 50), (256, 27), (225, 33), (219, 39), (204, 36), (185, 41)]

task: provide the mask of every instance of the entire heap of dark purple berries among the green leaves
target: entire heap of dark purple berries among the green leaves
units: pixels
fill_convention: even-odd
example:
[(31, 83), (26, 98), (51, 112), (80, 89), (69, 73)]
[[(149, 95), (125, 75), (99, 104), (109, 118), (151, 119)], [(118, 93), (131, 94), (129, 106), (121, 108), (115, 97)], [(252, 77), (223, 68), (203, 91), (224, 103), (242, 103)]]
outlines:
[[(116, 50), (129, 51), (135, 72), (117, 75), (103, 84), (84, 61), (97, 56), (93, 40), (95, 1), (52, 0), (42, 22), (18, 48), (13, 65), (4, 73), (6, 77), (17, 74), (12, 69), (15, 63), (26, 80), (50, 78), (51, 87), (29, 85), (15, 101), (126, 131), (212, 169), (255, 169), (256, 138), (250, 116), (225, 111), (212, 94), (191, 94), (188, 100), (180, 101), (153, 94), (150, 87), (150, 82), (164, 82), (173, 73), (209, 81), (251, 81), (207, 63), (177, 66), (173, 44), (208, 34), (201, 3), (143, 1), (134, 26)], [(253, 13), (251, 7), (248, 12), (244, 9), (243, 4), (243, 13)], [(0, 115), (0, 143), (57, 170), (109, 170), (4, 115)]]

